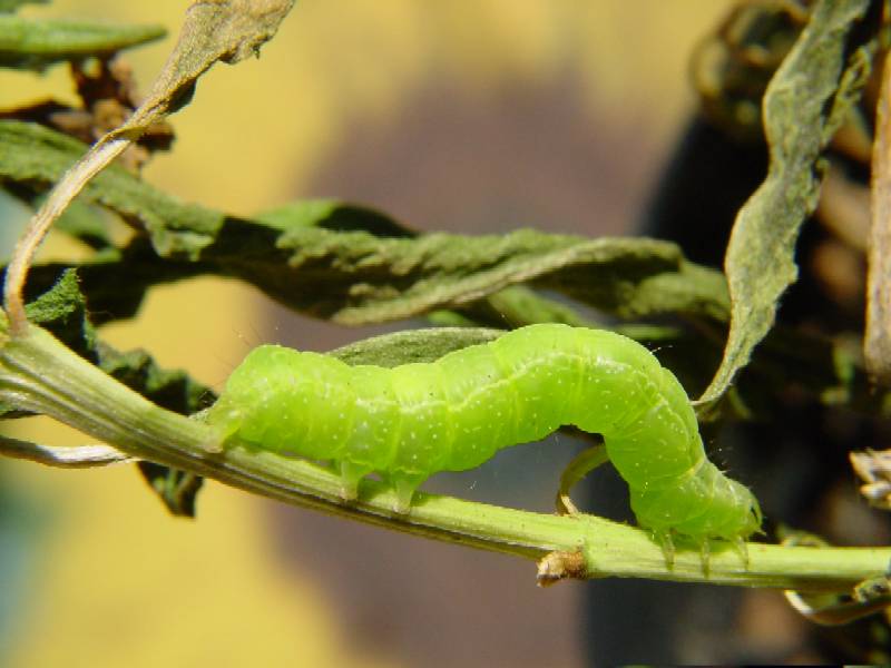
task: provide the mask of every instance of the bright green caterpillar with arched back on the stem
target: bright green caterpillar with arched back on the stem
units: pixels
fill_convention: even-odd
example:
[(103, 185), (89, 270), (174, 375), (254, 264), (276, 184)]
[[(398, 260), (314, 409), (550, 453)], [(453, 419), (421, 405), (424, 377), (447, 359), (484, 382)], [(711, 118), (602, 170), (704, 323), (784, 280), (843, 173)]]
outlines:
[(738, 542), (761, 525), (748, 489), (706, 459), (677, 379), (613, 332), (531, 325), (395, 369), (265, 345), (235, 370), (207, 421), (222, 446), (332, 461), (344, 499), (376, 472), (400, 512), (433, 473), (575, 424), (603, 435), (638, 523), (657, 536)]

